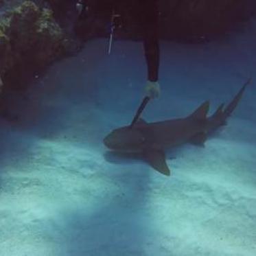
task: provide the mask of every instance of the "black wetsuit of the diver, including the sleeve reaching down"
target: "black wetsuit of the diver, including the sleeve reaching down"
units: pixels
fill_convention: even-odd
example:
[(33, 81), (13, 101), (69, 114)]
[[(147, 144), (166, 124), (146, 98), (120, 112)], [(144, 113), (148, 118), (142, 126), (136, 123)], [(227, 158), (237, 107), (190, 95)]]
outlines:
[[(86, 0), (84, 0), (86, 2)], [(89, 3), (90, 0), (87, 0)], [(148, 67), (148, 80), (159, 79), (159, 9), (158, 0), (93, 0), (96, 12), (128, 13), (132, 22), (139, 27)], [(124, 15), (125, 16), (125, 15)]]

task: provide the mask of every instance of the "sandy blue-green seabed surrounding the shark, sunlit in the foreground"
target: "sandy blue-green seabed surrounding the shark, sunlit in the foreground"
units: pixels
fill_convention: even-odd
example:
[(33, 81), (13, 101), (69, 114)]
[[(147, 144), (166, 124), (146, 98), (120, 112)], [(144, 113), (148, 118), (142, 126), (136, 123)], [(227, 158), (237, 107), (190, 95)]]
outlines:
[[(161, 42), (162, 95), (147, 121), (229, 102), (256, 67), (256, 27), (207, 45)], [(205, 148), (167, 154), (163, 176), (102, 139), (143, 97), (140, 43), (86, 43), (0, 119), (0, 255), (256, 255), (256, 87)], [(12, 100), (10, 100), (12, 102)]]

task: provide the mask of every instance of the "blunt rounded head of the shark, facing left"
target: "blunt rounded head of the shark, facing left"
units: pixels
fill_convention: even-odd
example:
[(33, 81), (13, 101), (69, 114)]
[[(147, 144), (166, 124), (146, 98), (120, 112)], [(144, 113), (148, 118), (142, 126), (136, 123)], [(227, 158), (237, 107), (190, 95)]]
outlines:
[(144, 143), (142, 133), (129, 127), (115, 129), (104, 139), (105, 146), (110, 150), (140, 151)]

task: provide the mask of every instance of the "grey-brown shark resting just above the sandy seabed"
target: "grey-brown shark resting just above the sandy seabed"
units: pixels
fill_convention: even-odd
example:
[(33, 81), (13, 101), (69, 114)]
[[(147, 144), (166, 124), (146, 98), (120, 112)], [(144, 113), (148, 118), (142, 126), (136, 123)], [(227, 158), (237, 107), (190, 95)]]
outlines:
[(209, 117), (207, 114), (210, 103), (207, 100), (187, 117), (152, 123), (142, 118), (138, 119), (132, 128), (124, 126), (111, 131), (104, 138), (104, 144), (108, 149), (117, 152), (139, 152), (154, 170), (170, 176), (171, 171), (165, 156), (166, 150), (181, 146), (183, 143), (204, 146), (209, 135), (226, 125), (226, 119), (231, 116), (246, 86), (250, 83), (251, 79), (243, 84), (226, 107), (220, 104)]

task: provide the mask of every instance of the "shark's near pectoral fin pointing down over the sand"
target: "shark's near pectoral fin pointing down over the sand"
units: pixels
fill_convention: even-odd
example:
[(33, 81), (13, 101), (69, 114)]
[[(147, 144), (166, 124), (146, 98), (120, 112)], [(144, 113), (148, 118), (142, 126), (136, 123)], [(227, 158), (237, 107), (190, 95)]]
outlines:
[(144, 150), (143, 155), (154, 170), (161, 172), (161, 174), (170, 176), (170, 169), (167, 166), (165, 152), (163, 152), (163, 150), (150, 148), (148, 150)]

